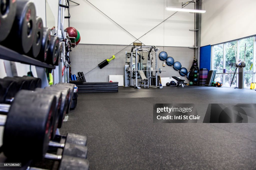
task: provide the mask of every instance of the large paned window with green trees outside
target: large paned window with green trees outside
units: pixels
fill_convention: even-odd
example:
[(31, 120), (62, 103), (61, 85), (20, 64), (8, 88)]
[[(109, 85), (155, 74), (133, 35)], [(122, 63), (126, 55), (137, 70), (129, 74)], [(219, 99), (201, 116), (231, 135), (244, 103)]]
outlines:
[[(223, 82), (223, 86), (237, 87), (238, 69), (237, 59), (244, 60), (244, 48), (246, 67), (244, 68), (244, 88), (250, 88), (252, 82), (256, 82), (256, 37), (244, 38), (212, 46), (212, 69), (217, 70), (215, 81)], [(235, 52), (236, 51), (236, 52)], [(236, 53), (236, 55), (235, 55)], [(236, 73), (235, 73), (236, 71)], [(235, 75), (234, 75), (235, 73)], [(234, 76), (234, 79), (233, 79)], [(233, 79), (233, 81), (232, 81)], [(231, 84), (232, 82), (232, 84)]]

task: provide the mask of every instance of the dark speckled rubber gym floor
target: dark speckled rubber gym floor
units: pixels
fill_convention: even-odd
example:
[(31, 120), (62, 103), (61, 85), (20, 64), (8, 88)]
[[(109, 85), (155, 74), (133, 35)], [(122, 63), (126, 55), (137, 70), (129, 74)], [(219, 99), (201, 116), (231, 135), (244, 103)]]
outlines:
[(88, 137), (94, 169), (256, 169), (256, 123), (153, 123), (155, 103), (255, 103), (256, 91), (163, 87), (79, 93), (61, 133)]

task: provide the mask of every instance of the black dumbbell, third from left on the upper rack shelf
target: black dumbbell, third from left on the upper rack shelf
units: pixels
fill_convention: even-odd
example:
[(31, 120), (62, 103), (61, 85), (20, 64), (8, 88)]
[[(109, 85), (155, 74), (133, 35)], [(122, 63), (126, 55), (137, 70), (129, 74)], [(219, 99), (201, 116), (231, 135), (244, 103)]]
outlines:
[(34, 35), (34, 42), (33, 45), (30, 49), (30, 51), (28, 52), (28, 56), (32, 57), (32, 58), (37, 58), (37, 56), (39, 55), (39, 52), (41, 50), (41, 46), (42, 46), (42, 36), (43, 36), (43, 30), (44, 30), (44, 26), (43, 26), (43, 21), (42, 18), (37, 17), (36, 18), (36, 31), (35, 31), (35, 35)]

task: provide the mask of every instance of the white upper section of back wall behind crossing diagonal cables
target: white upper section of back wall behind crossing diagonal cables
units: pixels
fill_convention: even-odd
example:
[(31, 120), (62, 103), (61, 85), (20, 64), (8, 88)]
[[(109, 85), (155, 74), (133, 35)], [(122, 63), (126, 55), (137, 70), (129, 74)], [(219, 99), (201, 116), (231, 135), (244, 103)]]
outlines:
[[(165, 10), (166, 0), (89, 1), (136, 38), (174, 13)], [(80, 44), (129, 45), (135, 40), (86, 0), (76, 2), (80, 5), (70, 2), (70, 26), (80, 32)], [(168, 0), (168, 7), (181, 5)], [(185, 8), (194, 9), (194, 3)], [(189, 29), (194, 29), (194, 14), (178, 12), (140, 40), (146, 45), (188, 47), (194, 45), (194, 32)]]

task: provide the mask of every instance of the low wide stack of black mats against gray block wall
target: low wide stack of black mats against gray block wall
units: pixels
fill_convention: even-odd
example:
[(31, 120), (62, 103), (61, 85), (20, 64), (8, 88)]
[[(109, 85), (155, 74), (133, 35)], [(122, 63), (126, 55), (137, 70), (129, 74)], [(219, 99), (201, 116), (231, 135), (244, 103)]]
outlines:
[(76, 84), (78, 93), (90, 92), (118, 92), (118, 82), (83, 82), (80, 80), (69, 81)]

